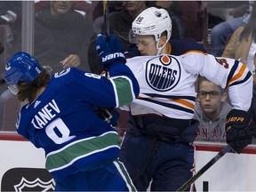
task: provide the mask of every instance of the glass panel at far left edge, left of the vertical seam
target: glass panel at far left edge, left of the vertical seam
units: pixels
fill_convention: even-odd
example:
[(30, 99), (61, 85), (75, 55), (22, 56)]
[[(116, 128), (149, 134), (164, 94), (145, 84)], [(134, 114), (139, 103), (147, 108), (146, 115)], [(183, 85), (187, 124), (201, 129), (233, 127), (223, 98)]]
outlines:
[(20, 110), (20, 102), (8, 91), (3, 78), (7, 60), (17, 44), (21, 44), (22, 4), (21, 1), (0, 1), (0, 43), (4, 46), (0, 54), (0, 131), (3, 132), (15, 132)]

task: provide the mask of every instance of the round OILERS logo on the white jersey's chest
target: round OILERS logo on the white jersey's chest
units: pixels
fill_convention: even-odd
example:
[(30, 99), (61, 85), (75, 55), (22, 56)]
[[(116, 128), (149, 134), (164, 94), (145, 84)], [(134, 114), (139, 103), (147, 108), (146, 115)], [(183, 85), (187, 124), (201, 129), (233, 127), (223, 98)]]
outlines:
[(180, 62), (171, 55), (155, 57), (147, 62), (146, 81), (152, 89), (158, 92), (172, 90), (179, 83), (180, 76)]

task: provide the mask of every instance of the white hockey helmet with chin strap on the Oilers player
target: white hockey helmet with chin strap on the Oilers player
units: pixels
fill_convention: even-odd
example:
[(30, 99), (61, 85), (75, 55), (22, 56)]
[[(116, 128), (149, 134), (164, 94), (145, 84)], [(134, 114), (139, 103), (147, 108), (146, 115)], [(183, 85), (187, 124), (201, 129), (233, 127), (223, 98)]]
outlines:
[[(157, 9), (156, 7), (149, 7), (141, 12), (132, 22), (132, 32), (135, 35), (153, 35), (156, 39), (157, 49), (161, 34), (167, 31), (167, 39), (172, 35), (172, 20), (169, 13), (164, 9)], [(166, 42), (167, 44), (167, 42)]]

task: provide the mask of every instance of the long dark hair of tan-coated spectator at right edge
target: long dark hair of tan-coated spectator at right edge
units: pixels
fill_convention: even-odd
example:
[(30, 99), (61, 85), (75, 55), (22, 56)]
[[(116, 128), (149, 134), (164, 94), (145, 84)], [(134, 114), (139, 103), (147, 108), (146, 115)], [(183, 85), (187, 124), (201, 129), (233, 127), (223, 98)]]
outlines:
[(251, 17), (248, 23), (245, 25), (244, 30), (241, 33), (239, 41), (248, 40), (248, 36), (252, 35), (255, 42), (256, 37), (256, 3), (252, 5)]

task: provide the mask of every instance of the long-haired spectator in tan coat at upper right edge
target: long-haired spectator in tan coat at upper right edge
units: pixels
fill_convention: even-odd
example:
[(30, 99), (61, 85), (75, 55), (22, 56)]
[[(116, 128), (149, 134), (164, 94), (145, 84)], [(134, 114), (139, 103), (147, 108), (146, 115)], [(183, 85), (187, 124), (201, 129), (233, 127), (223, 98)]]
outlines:
[(241, 60), (255, 73), (254, 55), (256, 53), (256, 4), (252, 6), (248, 23), (236, 28), (222, 54), (223, 57)]

